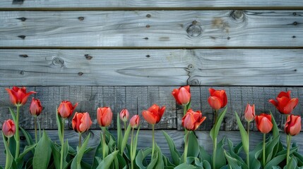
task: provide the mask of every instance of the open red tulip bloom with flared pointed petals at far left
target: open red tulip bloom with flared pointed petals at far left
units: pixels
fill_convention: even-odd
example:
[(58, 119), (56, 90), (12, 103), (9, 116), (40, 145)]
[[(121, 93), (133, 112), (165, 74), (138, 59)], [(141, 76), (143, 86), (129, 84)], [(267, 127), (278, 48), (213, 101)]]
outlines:
[(30, 94), (35, 94), (37, 92), (28, 92), (26, 93), (26, 88), (22, 87), (13, 87), (13, 89), (6, 89), (9, 95), (9, 99), (11, 100), (11, 103), (15, 106), (22, 106), (26, 104), (26, 101), (28, 101), (28, 96)]

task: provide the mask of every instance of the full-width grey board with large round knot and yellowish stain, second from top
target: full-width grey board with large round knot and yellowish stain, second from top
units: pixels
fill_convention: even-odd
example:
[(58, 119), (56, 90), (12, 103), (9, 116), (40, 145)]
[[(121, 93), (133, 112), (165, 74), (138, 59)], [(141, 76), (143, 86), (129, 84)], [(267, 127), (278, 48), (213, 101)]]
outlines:
[(0, 47), (302, 47), (303, 11), (0, 11)]

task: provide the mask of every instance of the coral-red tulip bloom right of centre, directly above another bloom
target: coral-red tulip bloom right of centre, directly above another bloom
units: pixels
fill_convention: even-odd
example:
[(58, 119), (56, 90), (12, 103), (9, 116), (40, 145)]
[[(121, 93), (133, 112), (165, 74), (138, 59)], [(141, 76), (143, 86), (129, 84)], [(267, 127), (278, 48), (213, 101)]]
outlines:
[(176, 99), (177, 104), (182, 106), (189, 104), (189, 101), (191, 101), (189, 85), (172, 90), (172, 96), (174, 96), (174, 99)]

